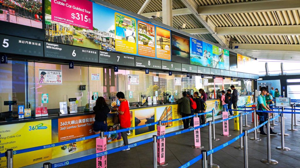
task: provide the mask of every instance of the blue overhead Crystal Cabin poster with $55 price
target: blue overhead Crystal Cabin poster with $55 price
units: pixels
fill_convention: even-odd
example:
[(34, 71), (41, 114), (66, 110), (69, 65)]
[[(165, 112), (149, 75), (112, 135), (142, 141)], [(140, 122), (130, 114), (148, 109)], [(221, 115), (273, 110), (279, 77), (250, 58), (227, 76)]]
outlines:
[[(190, 39), (190, 41), (192, 41), (192, 38)], [(200, 40), (196, 40), (196, 41), (200, 41)], [(201, 42), (201, 41), (200, 41)], [(199, 65), (199, 66), (204, 66), (204, 67), (211, 67), (212, 66), (212, 44), (206, 43), (206, 42), (202, 42), (202, 56), (199, 56), (199, 50), (195, 51), (195, 47), (193, 47), (193, 45), (190, 45), (190, 53), (198, 53), (198, 55), (196, 54), (191, 54), (190, 56), (190, 64), (192, 65)]]

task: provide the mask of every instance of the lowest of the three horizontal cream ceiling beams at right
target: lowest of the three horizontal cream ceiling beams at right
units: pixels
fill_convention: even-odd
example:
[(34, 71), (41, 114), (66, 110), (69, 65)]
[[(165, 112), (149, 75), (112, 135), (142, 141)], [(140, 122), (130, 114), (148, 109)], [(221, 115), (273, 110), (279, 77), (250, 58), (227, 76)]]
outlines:
[[(235, 48), (237, 46), (238, 48)], [(273, 51), (298, 51), (299, 44), (242, 44), (232, 43), (232, 47), (237, 50), (273, 50)]]

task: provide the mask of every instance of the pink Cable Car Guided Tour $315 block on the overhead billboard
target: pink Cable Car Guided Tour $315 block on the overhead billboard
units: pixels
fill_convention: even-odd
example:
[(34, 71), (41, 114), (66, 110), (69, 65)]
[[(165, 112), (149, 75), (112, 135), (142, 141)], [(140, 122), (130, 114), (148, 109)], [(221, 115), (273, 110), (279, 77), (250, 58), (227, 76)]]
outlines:
[(52, 0), (51, 20), (93, 30), (93, 2), (87, 0)]

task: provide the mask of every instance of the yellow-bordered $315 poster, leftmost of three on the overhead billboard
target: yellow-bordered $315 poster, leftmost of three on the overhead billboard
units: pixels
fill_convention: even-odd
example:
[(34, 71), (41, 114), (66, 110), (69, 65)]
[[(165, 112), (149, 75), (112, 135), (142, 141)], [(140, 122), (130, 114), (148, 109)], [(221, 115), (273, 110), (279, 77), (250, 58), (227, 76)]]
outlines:
[(137, 54), (136, 19), (115, 13), (116, 51)]

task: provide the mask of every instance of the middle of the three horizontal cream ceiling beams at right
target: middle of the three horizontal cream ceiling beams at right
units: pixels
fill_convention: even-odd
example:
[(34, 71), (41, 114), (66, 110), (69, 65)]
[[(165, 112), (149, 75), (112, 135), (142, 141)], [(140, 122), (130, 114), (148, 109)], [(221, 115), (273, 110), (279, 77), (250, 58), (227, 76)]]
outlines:
[(300, 36), (300, 25), (217, 27), (216, 29), (217, 29), (217, 35), (222, 35), (222, 36), (229, 36), (229, 35)]

